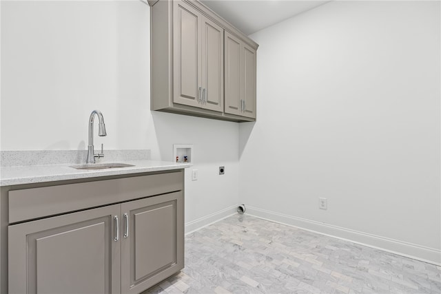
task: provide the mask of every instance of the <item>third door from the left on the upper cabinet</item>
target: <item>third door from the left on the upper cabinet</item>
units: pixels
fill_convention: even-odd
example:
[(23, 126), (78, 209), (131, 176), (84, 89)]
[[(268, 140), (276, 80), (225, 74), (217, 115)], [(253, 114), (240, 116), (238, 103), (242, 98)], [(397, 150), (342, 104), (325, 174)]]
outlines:
[(225, 113), (243, 115), (240, 94), (240, 41), (225, 32)]

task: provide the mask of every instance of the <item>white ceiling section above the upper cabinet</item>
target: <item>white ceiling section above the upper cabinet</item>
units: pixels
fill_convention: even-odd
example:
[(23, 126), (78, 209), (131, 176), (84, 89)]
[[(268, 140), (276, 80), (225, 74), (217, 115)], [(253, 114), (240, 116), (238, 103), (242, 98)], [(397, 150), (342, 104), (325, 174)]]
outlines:
[(329, 1), (201, 0), (201, 2), (249, 35)]

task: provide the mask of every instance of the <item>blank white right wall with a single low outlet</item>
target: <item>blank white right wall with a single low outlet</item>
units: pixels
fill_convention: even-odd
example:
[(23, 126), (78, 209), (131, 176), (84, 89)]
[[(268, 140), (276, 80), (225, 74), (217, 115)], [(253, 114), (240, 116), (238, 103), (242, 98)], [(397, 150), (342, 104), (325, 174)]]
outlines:
[(440, 2), (332, 1), (251, 38), (249, 213), (441, 263)]

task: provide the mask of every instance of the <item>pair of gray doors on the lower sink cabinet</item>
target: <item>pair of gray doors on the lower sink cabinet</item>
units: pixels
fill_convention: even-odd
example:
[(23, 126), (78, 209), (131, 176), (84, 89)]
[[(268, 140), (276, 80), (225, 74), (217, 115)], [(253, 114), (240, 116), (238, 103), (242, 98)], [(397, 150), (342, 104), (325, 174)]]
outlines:
[(9, 293), (141, 293), (183, 269), (183, 191), (8, 227)]

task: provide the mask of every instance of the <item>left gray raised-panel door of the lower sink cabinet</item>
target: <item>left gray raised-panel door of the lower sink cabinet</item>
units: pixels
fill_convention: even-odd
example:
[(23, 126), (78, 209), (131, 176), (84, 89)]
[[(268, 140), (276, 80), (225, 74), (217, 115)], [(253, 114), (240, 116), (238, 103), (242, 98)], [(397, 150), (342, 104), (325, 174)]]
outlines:
[[(9, 293), (121, 293), (121, 205), (8, 227)], [(120, 224), (121, 225), (121, 224)]]

